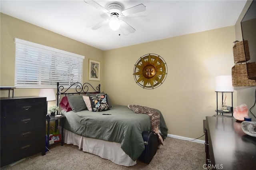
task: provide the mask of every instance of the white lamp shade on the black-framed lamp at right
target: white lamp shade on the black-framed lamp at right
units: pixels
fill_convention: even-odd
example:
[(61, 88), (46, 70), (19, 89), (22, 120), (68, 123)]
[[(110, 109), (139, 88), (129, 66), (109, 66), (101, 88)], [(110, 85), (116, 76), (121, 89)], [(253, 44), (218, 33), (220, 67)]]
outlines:
[(218, 75), (215, 77), (215, 91), (233, 92), (231, 75)]

